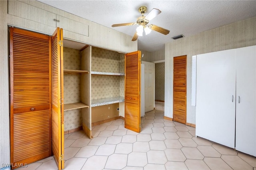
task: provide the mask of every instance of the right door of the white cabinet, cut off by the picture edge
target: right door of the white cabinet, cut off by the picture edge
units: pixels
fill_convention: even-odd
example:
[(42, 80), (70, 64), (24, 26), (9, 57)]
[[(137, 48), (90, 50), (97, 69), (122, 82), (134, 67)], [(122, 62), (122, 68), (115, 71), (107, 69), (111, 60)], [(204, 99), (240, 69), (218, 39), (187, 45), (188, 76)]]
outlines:
[(256, 156), (256, 46), (236, 49), (236, 150)]

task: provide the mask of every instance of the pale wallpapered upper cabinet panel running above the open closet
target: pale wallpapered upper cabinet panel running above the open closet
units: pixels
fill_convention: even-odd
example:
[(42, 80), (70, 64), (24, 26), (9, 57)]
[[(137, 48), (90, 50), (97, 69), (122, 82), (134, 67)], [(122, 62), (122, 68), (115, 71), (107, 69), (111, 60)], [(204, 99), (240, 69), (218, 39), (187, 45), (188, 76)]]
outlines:
[[(132, 36), (70, 14), (36, 0), (8, 0), (6, 20), (11, 26), (52, 35), (56, 27), (63, 29), (68, 40), (127, 53), (138, 49)], [(89, 18), (90, 19), (90, 18)]]

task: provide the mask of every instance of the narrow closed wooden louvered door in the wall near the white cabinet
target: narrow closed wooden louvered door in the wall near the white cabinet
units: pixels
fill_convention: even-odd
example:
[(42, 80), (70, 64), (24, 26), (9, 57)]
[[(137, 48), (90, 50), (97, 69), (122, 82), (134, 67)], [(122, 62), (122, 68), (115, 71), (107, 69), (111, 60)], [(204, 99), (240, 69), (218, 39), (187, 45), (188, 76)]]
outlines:
[(173, 58), (173, 121), (186, 124), (186, 55)]

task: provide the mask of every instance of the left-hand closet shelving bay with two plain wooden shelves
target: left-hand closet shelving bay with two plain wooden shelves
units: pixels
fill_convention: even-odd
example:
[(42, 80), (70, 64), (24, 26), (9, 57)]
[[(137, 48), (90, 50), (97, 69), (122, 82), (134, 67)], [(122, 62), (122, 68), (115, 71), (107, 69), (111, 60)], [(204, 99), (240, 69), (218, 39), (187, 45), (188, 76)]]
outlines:
[[(65, 46), (66, 45), (66, 46)], [(90, 98), (87, 92), (90, 84), (90, 67), (84, 48), (86, 44), (64, 40), (64, 131), (83, 127), (90, 137)], [(81, 50), (82, 49), (82, 50)]]

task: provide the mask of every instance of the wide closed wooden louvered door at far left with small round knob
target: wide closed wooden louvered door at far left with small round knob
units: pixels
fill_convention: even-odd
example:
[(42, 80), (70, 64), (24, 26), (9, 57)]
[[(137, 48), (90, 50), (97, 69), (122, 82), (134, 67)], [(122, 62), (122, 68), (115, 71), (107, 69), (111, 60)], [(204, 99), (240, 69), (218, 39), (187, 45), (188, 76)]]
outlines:
[(12, 168), (52, 154), (50, 36), (10, 28)]

